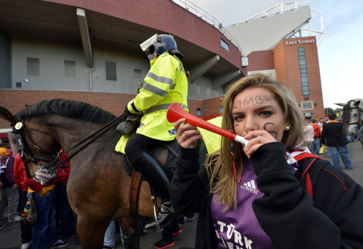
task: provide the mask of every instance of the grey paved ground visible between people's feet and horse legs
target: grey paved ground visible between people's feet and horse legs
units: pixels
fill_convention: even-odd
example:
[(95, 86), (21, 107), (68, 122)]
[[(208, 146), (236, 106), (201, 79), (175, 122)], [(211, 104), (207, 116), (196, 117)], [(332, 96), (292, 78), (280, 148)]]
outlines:
[[(345, 173), (347, 173), (350, 177), (352, 177), (356, 182), (363, 186), (363, 150), (362, 146), (358, 141), (354, 143), (348, 144), (348, 155), (352, 162), (354, 170), (347, 171), (345, 170), (344, 164), (341, 161), (342, 169)], [(332, 163), (332, 159), (326, 157), (325, 155), (321, 156), (323, 159), (326, 159)], [(197, 215), (196, 215), (197, 218)], [(19, 222), (16, 223), (7, 223), (6, 219), (0, 220), (0, 225), (7, 224), (7, 226), (0, 230), (0, 249), (18, 249), (21, 247), (21, 239), (20, 239), (20, 225)], [(196, 228), (196, 220), (193, 222), (187, 222), (185, 226), (182, 228), (183, 232), (179, 236), (175, 236), (175, 245), (172, 248), (175, 249), (191, 249), (194, 248), (195, 242), (195, 228)], [(160, 240), (162, 238), (161, 234), (150, 233), (145, 236), (140, 237), (140, 248), (153, 248), (154, 242)], [(74, 237), (70, 237), (70, 244), (64, 249), (81, 249), (81, 245), (74, 244)], [(116, 249), (123, 248), (119, 233), (116, 234)]]

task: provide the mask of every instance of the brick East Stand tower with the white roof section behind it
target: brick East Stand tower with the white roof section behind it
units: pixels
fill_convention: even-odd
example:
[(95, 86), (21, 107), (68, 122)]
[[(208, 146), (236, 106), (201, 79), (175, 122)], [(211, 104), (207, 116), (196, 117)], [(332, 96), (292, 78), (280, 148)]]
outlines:
[(226, 29), (247, 54), (248, 74), (260, 71), (287, 82), (305, 116), (324, 117), (319, 12), (297, 2), (278, 4)]

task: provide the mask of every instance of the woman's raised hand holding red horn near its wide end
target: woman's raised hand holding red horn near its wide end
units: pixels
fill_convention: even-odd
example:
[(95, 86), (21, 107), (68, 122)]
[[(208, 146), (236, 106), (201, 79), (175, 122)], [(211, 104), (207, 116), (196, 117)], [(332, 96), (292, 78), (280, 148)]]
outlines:
[(183, 148), (194, 148), (197, 146), (197, 140), (201, 139), (200, 131), (194, 125), (184, 124), (185, 118), (179, 119), (174, 123), (176, 130), (176, 141)]

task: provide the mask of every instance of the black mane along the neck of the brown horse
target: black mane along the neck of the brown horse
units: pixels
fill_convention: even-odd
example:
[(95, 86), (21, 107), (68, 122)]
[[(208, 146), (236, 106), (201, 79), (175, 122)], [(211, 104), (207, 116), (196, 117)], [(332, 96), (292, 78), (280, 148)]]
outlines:
[(84, 119), (93, 123), (107, 124), (115, 115), (98, 106), (68, 99), (50, 99), (29, 105), (15, 114), (18, 118), (56, 114), (67, 118)]

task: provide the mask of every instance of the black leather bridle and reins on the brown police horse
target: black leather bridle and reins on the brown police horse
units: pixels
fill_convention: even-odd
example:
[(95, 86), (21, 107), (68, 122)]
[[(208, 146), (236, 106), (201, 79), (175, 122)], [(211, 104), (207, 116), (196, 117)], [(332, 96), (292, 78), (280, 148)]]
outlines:
[[(16, 140), (16, 147), (17, 147), (17, 150), (18, 150), (18, 152), (20, 154), (20, 158), (21, 158), (21, 160), (22, 160), (22, 162), (24, 164), (27, 164), (28, 162), (31, 161), (35, 165), (37, 165), (37, 167), (42, 172), (46, 173), (47, 175), (50, 175), (51, 173), (54, 173), (57, 170), (57, 168), (62, 167), (62, 165), (64, 163), (66, 163), (67, 161), (69, 161), (71, 158), (73, 158), (76, 154), (78, 154), (84, 148), (86, 148), (87, 146), (89, 146), (99, 136), (101, 136), (106, 131), (108, 131), (115, 123), (117, 123), (118, 121), (124, 120), (127, 117), (127, 115), (128, 115), (128, 113), (123, 113), (121, 116), (115, 118), (114, 120), (112, 120), (111, 122), (109, 122), (106, 125), (102, 126), (101, 128), (99, 128), (98, 130), (96, 130), (92, 134), (88, 135), (82, 141), (80, 141), (77, 144), (73, 145), (71, 148), (69, 148), (68, 150), (64, 151), (62, 154), (60, 154), (58, 152), (58, 151), (61, 150), (61, 147), (60, 146), (58, 148), (56, 148), (56, 152), (47, 152), (45, 150), (40, 149), (39, 146), (37, 146), (35, 144), (34, 140), (29, 135), (29, 133), (27, 132), (27, 130), (25, 130), (25, 126), (24, 126), (24, 122), (23, 122), (24, 120), (23, 120), (23, 118), (21, 118), (19, 120), (19, 122), (16, 123), (16, 125), (13, 127), (13, 133), (15, 135), (15, 140)], [(25, 139), (25, 135), (24, 134), (31, 141), (31, 143), (33, 144), (33, 147), (34, 147), (35, 150), (40, 151), (44, 155), (51, 155), (51, 156), (53, 156), (53, 159), (36, 156), (32, 152), (32, 150), (30, 149), (30, 146), (28, 145), (27, 140)], [(64, 160), (61, 160), (60, 159), (63, 155), (67, 154), (69, 151), (73, 150), (75, 147), (80, 146), (81, 144), (83, 144), (83, 145), (80, 148), (78, 148), (76, 151), (74, 151), (71, 155), (68, 155), (68, 157), (66, 159), (64, 159)], [(26, 154), (28, 156), (28, 158), (25, 158), (24, 154)], [(45, 162), (47, 162), (47, 164), (46, 165), (42, 165), (41, 163), (38, 162), (38, 160), (45, 161)], [(51, 165), (53, 165), (53, 167), (49, 168)], [(29, 178), (31, 178), (31, 175), (30, 175), (30, 172), (29, 172), (28, 167), (25, 167), (25, 171), (27, 173), (27, 176)]]

